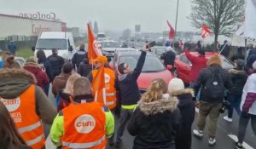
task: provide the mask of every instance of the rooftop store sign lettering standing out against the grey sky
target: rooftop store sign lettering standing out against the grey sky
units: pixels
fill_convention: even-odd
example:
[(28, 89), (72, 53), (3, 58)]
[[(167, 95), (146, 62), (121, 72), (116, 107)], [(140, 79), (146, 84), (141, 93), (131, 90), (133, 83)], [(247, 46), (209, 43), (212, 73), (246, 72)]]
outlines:
[(41, 20), (55, 20), (56, 18), (55, 13), (41, 14), (40, 12), (37, 12), (34, 14), (20, 13), (19, 16), (23, 18), (41, 19)]

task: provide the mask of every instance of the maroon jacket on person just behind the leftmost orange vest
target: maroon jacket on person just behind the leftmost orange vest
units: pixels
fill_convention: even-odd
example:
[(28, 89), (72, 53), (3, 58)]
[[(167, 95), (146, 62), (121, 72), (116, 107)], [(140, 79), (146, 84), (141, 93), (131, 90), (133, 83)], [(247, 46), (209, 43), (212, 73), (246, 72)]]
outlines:
[(49, 79), (47, 77), (47, 74), (42, 70), (42, 68), (38, 64), (32, 63), (32, 62), (26, 62), (23, 68), (27, 72), (31, 72), (36, 77), (37, 85), (41, 87), (41, 89), (44, 90), (46, 86), (49, 85)]

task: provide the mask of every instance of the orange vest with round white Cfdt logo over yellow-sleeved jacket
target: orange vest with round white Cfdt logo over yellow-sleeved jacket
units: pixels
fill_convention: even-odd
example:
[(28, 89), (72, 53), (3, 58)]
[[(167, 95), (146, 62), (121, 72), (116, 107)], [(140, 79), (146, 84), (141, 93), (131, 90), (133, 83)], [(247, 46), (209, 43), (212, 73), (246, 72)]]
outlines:
[(70, 104), (62, 112), (64, 117), (62, 148), (105, 148), (106, 115), (102, 103)]

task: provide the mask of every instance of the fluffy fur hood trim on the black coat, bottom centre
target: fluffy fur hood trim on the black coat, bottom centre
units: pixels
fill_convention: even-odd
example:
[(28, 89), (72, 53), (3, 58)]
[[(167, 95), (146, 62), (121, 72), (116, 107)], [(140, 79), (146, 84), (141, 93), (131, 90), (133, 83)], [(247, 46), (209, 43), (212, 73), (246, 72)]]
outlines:
[(138, 101), (138, 107), (145, 115), (154, 115), (166, 111), (174, 111), (177, 109), (178, 100), (176, 97), (163, 96), (160, 100), (153, 102)]

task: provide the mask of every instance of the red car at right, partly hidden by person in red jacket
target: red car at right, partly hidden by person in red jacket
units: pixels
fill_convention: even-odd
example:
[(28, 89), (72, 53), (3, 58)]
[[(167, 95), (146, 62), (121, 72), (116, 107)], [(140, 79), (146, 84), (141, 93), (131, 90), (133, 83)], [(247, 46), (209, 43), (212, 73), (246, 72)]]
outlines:
[[(197, 52), (191, 52), (191, 54), (198, 55)], [(216, 54), (216, 53), (206, 52), (206, 58), (210, 59), (210, 57), (213, 54)], [(230, 70), (231, 68), (234, 68), (234, 64), (229, 59), (227, 59), (223, 55), (220, 55), (220, 57), (222, 61), (222, 67), (224, 69)], [(184, 83), (190, 83), (189, 74), (191, 71), (192, 64), (187, 59), (187, 56), (184, 53), (177, 55), (174, 66), (175, 66), (175, 72), (174, 72), (175, 76), (182, 79)]]

